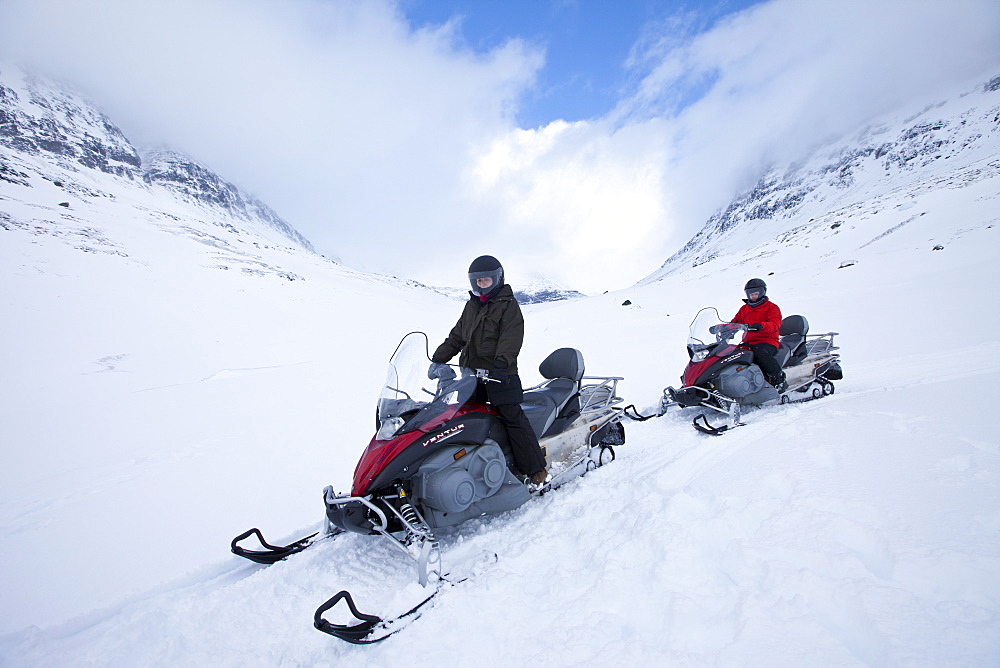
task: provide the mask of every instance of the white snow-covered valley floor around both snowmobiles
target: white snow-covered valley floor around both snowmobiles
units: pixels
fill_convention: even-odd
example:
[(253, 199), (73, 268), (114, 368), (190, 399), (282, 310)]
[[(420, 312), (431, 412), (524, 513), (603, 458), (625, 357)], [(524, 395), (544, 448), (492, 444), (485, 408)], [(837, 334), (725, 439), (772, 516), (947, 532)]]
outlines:
[[(526, 307), (526, 383), (573, 346), (645, 412), (695, 312), (735, 313), (761, 276), (839, 332), (845, 377), (719, 438), (691, 411), (628, 423), (613, 464), (438, 532), (467, 579), (371, 647), (312, 615), (341, 589), (380, 615), (422, 600), (391, 546), (260, 567), (229, 541), (319, 526), (395, 343), (443, 338), (460, 302), (263, 242), (239, 257), (268, 271), (223, 269), (203, 236), (125, 217), (134, 190), (63, 211), (38, 181), (0, 193), (0, 664), (1000, 665), (996, 167), (844, 206), (837, 234), (748, 227), (707, 264)], [(460, 284), (470, 258), (441, 257)]]

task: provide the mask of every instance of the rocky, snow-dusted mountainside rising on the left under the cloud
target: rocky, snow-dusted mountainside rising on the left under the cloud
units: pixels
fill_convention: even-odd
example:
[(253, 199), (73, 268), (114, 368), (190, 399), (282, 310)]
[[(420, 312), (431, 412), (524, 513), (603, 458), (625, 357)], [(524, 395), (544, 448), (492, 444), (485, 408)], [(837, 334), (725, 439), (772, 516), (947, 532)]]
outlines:
[[(185, 219), (176, 233), (209, 241), (219, 247), (262, 243), (312, 252), (301, 234), (267, 205), (242, 192), (203, 165), (176, 152), (140, 150), (102, 112), (77, 93), (54, 81), (11, 65), (0, 66), (0, 183), (8, 202), (31, 210), (56, 203), (72, 210), (74, 222), (93, 223), (87, 209), (98, 203), (119, 203), (137, 209), (139, 219), (169, 226)], [(31, 227), (33, 218), (13, 217), (13, 205), (3, 207), (4, 225)], [(78, 213), (79, 212), (79, 213)], [(154, 220), (155, 219), (155, 220)], [(63, 221), (48, 234), (92, 237), (85, 229)], [(113, 245), (102, 237), (99, 245)], [(234, 245), (235, 244), (235, 245)], [(246, 264), (257, 259), (250, 252)]]

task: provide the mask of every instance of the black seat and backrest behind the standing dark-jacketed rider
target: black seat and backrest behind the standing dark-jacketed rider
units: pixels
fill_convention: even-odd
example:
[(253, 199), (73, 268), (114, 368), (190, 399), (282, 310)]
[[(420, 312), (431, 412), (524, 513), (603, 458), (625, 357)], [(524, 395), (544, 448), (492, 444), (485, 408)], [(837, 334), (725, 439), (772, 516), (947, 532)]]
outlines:
[(548, 380), (525, 392), (521, 401), (535, 436), (541, 438), (559, 418), (575, 417), (571, 415), (574, 406), (575, 413), (579, 414), (577, 397), (583, 370), (583, 354), (575, 348), (560, 348), (542, 360), (538, 372)]

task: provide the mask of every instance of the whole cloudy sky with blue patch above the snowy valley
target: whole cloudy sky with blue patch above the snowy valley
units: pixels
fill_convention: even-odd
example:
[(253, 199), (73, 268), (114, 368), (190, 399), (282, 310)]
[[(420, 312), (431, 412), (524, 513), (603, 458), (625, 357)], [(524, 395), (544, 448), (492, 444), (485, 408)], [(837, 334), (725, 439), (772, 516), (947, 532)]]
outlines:
[(353, 267), (599, 293), (770, 167), (1000, 75), (1000, 2), (0, 0), (4, 57)]

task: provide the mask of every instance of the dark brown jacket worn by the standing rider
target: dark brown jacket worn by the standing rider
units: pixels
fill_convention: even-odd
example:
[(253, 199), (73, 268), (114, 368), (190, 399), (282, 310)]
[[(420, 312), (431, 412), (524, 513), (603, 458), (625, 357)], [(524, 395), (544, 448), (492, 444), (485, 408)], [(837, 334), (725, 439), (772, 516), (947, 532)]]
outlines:
[[(470, 293), (471, 295), (471, 293)], [(469, 369), (493, 371), (497, 360), (507, 364), (507, 373), (517, 374), (517, 355), (524, 341), (524, 316), (509, 285), (485, 304), (471, 295), (462, 317), (431, 359), (439, 364), (461, 353), (458, 363)]]

